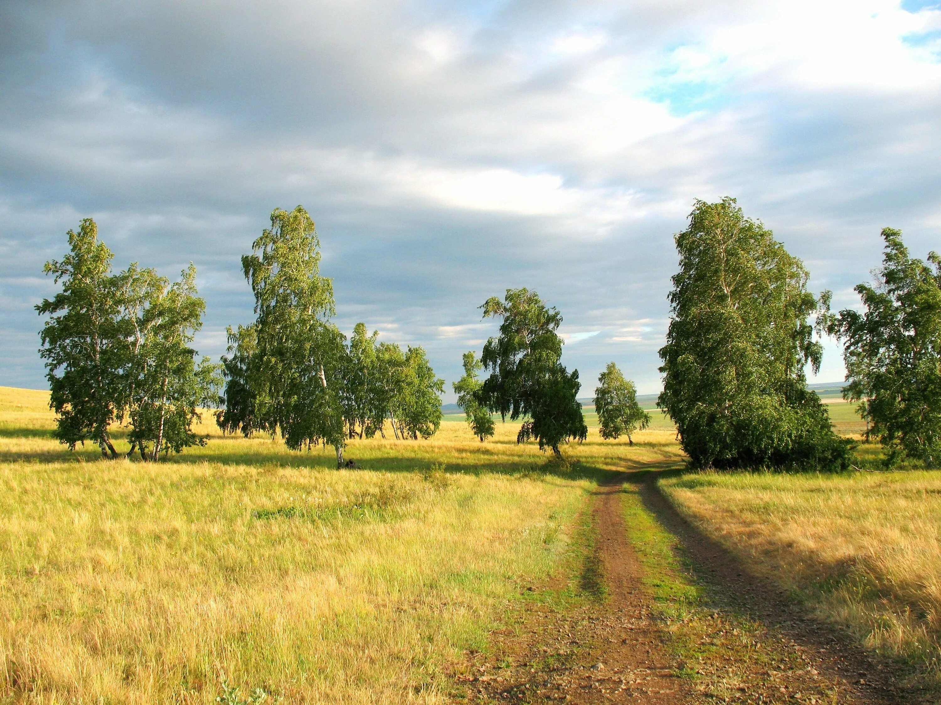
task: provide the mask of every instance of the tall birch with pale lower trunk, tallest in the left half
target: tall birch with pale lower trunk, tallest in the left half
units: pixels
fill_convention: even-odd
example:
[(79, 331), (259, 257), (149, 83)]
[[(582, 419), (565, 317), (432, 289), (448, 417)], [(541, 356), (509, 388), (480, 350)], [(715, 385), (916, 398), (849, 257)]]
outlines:
[[(328, 443), (336, 449), (339, 467), (346, 439), (344, 337), (329, 322), (336, 312), (333, 284), (320, 275), (320, 258), (316, 229), (301, 206), (272, 211), (271, 227), (242, 258), (257, 315), (254, 359), (248, 364), (254, 392), (251, 429), (280, 432), (293, 449)], [(227, 412), (231, 409), (238, 421), (237, 407), (228, 401), (231, 391), (237, 386), (230, 390), (227, 385)]]

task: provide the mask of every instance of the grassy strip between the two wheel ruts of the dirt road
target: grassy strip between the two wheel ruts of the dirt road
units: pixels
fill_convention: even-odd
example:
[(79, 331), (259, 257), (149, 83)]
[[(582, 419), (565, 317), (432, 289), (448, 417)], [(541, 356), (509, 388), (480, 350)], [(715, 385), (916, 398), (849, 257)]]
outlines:
[(677, 675), (710, 702), (841, 701), (836, 686), (804, 677), (809, 666), (800, 650), (694, 572), (677, 537), (646, 509), (640, 493), (645, 477), (635, 472), (624, 485), (624, 516)]

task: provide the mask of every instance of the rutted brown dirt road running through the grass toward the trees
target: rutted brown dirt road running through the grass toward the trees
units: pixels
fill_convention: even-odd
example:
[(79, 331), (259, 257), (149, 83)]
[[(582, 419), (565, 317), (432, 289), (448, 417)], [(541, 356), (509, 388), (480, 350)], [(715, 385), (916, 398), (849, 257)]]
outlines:
[[(734, 632), (758, 644), (763, 660), (731, 650), (691, 663), (689, 649), (680, 648), (689, 641), (684, 625), (666, 623), (644, 582), (624, 521), (625, 483), (681, 540), (695, 579), (714, 598), (703, 607), (710, 614), (699, 620), (697, 638), (715, 644)], [(467, 684), (470, 702), (895, 705), (920, 699), (899, 688), (897, 674), (807, 619), (687, 525), (656, 489), (654, 473), (626, 473), (599, 486), (592, 517), (594, 568), (585, 580), (597, 581), (587, 586), (597, 599), (574, 609), (529, 603), (517, 624), (494, 635), (494, 652), (477, 655), (457, 679)]]

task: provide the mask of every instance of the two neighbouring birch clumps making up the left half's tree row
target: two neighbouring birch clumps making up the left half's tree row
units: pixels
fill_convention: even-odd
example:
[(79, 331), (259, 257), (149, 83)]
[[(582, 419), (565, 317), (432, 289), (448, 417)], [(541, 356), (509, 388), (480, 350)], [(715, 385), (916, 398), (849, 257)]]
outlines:
[[(199, 409), (222, 407), (223, 431), (280, 434), (299, 449), (324, 443), (343, 464), (348, 438), (428, 438), (441, 422), (444, 381), (422, 348), (379, 343), (358, 323), (349, 340), (330, 322), (333, 285), (320, 275), (320, 242), (298, 206), (276, 210), (271, 227), (242, 258), (256, 320), (228, 329), (221, 364), (197, 362), (191, 347), (205, 302), (190, 264), (170, 283), (136, 263), (112, 272), (112, 252), (91, 219), (69, 231), (70, 253), (45, 265), (61, 291), (37, 306), (56, 411), (56, 437), (74, 449), (90, 441), (119, 456), (114, 424), (127, 423), (131, 457), (157, 461), (204, 445)], [(220, 391), (224, 386), (224, 397)]]

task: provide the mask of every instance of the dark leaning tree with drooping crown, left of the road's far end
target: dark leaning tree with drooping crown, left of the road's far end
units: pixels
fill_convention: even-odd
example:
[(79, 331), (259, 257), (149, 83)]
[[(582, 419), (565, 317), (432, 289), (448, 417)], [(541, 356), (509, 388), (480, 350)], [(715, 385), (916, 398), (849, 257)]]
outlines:
[(500, 336), (487, 340), (481, 356), (490, 376), (478, 391), (480, 404), (503, 419), (529, 416), (517, 442), (536, 439), (541, 449), (549, 447), (561, 458), (560, 444), (588, 435), (576, 399), (579, 372), (569, 374), (559, 362), (562, 338), (556, 330), (561, 314), (527, 289), (508, 289), (503, 301), (494, 296), (481, 308), (484, 318), (499, 316), (502, 323)]

